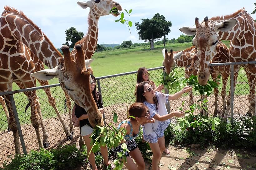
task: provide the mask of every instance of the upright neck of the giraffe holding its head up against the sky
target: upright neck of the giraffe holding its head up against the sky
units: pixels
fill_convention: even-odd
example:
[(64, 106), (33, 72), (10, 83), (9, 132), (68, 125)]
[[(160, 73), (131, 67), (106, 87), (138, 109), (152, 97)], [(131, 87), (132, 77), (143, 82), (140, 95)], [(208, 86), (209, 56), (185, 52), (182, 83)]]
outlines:
[[(78, 44), (81, 44), (83, 51), (85, 53), (85, 59), (90, 59), (97, 48), (98, 43), (98, 22), (99, 16), (95, 16), (90, 10), (88, 16), (88, 32), (85, 37), (83, 37)], [(71, 57), (75, 59), (77, 57), (76, 48), (71, 51)]]

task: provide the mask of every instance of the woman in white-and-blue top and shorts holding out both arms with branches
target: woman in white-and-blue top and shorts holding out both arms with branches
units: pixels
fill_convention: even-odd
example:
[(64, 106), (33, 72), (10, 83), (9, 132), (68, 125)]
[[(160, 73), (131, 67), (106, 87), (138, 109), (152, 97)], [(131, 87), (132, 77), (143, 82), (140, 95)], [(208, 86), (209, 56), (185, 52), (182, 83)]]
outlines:
[(168, 114), (165, 103), (168, 100), (175, 100), (180, 98), (184, 93), (191, 90), (191, 87), (184, 87), (182, 90), (175, 94), (162, 94), (154, 92), (154, 87), (148, 82), (144, 81), (137, 87), (136, 102), (144, 103), (150, 112), (150, 118), (155, 119), (155, 123), (145, 124), (143, 126), (143, 137), (150, 145), (153, 152), (152, 169), (160, 169), (158, 164), (160, 162), (163, 151), (165, 150), (165, 137), (164, 131), (170, 124), (171, 117), (181, 117), (184, 115), (182, 111), (175, 111)]

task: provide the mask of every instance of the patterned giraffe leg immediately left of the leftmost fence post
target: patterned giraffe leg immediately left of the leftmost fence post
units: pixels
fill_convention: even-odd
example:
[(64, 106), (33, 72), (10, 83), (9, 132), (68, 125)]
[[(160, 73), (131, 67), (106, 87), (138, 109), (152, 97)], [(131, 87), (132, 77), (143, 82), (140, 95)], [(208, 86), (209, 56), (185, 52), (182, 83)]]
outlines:
[(19, 143), (20, 138), (19, 138), (18, 129), (17, 129), (15, 118), (14, 118), (12, 105), (11, 105), (9, 96), (4, 96), (4, 100), (5, 100), (7, 109), (10, 113), (10, 120), (9, 120), (10, 124), (9, 125), (10, 125), (10, 128), (11, 128), (12, 133), (13, 133), (15, 154), (21, 154), (20, 143)]

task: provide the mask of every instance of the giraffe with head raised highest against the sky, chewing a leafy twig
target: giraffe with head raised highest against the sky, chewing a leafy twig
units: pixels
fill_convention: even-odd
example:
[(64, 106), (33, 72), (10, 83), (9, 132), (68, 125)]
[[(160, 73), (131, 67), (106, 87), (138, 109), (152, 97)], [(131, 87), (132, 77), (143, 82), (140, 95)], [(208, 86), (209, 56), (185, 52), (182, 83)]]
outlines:
[[(98, 22), (100, 16), (106, 16), (112, 14), (113, 16), (119, 16), (120, 13), (109, 13), (109, 11), (116, 7), (119, 11), (122, 10), (122, 7), (119, 3), (112, 0), (90, 0), (87, 2), (77, 2), (83, 9), (87, 7), (90, 8), (90, 12), (88, 15), (88, 32), (87, 34), (76, 44), (81, 44), (83, 51), (85, 53), (85, 59), (90, 59), (93, 53), (96, 50), (97, 42), (98, 42)], [(76, 59), (77, 52), (76, 48), (73, 48), (71, 51), (72, 59)], [(93, 74), (92, 68), (89, 66), (88, 71)]]

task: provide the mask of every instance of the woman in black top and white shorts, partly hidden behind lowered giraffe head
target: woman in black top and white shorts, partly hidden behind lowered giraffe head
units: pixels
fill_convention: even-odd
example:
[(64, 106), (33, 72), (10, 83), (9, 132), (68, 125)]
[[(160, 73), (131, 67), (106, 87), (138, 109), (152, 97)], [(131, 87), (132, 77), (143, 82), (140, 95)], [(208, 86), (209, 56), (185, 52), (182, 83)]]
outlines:
[[(99, 111), (103, 114), (104, 108), (103, 108), (102, 102), (101, 102), (102, 101), (101, 93), (96, 91), (96, 79), (93, 75), (91, 75), (91, 79), (92, 79), (92, 83), (91, 83), (92, 96), (96, 102), (96, 105), (97, 105)], [(80, 120), (80, 133), (85, 141), (85, 144), (87, 147), (87, 155), (88, 155), (92, 148), (92, 145), (90, 145), (91, 138), (89, 138), (89, 137), (91, 136), (91, 133), (93, 132), (93, 127), (89, 123), (88, 115), (87, 115), (85, 109), (78, 106), (76, 103), (75, 103), (75, 106), (76, 106), (75, 115), (78, 118), (78, 120)], [(106, 146), (105, 147), (101, 146), (101, 154), (104, 159), (104, 164), (106, 166), (108, 166), (110, 164), (110, 162), (108, 161), (108, 149)], [(93, 152), (91, 152), (88, 159), (91, 163), (92, 169), (97, 170), (98, 168), (95, 164), (95, 156), (94, 156)], [(115, 168), (114, 164), (111, 164), (111, 169), (114, 169), (114, 168)]]

